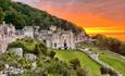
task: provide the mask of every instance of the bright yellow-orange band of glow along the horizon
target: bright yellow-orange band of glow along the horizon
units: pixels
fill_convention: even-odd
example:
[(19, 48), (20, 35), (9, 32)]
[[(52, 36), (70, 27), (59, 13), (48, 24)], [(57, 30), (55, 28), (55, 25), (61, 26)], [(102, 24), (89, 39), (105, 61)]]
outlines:
[(104, 35), (107, 37), (117, 38), (120, 40), (125, 41), (125, 30), (124, 30), (124, 28), (109, 29), (107, 27), (105, 28), (104, 27), (93, 27), (93, 28), (88, 27), (88, 28), (85, 28), (85, 30), (89, 36), (101, 34), (101, 35)]

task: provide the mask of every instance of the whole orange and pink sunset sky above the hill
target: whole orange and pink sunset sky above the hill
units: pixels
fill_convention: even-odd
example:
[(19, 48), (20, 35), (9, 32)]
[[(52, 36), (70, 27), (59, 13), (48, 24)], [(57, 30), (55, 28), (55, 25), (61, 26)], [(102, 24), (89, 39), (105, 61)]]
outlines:
[(16, 0), (65, 18), (89, 35), (125, 41), (125, 0)]

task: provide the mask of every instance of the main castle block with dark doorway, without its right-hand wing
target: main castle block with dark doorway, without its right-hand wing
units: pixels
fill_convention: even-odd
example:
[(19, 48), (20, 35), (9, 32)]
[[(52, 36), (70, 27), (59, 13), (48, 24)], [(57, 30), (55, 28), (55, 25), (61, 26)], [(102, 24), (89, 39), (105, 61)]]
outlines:
[(42, 40), (49, 48), (75, 49), (74, 34), (70, 30), (57, 30), (55, 27), (51, 27), (50, 30), (40, 30), (35, 35), (39, 40)]

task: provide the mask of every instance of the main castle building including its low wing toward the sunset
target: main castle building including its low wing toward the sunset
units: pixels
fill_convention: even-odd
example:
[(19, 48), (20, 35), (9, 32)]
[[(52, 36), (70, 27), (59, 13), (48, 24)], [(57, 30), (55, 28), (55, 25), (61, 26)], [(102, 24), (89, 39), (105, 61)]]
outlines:
[(37, 27), (35, 30), (35, 37), (42, 40), (48, 48), (53, 49), (76, 49), (76, 43), (87, 40), (85, 31), (75, 35), (72, 30), (64, 30), (51, 26), (49, 30), (39, 30)]

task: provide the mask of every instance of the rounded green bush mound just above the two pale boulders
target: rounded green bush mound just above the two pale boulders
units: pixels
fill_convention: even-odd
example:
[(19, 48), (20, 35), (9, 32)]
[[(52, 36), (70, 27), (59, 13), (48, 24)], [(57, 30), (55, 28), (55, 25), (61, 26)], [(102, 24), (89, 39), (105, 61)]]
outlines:
[(47, 54), (47, 47), (32, 38), (17, 39), (16, 41), (9, 45), (8, 48), (22, 48), (26, 53), (43, 53)]

